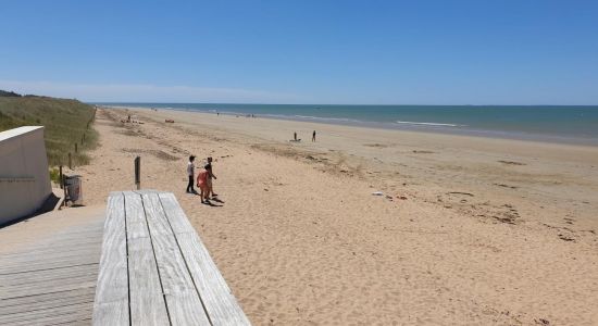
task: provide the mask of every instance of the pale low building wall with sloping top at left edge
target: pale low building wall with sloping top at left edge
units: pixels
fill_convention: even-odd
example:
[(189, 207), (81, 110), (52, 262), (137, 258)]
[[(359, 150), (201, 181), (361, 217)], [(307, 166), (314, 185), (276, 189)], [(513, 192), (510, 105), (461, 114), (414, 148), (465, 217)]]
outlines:
[(0, 133), (0, 225), (34, 213), (51, 192), (43, 127)]

